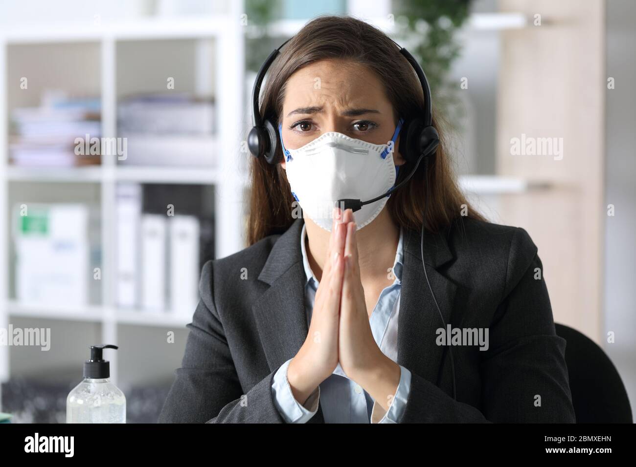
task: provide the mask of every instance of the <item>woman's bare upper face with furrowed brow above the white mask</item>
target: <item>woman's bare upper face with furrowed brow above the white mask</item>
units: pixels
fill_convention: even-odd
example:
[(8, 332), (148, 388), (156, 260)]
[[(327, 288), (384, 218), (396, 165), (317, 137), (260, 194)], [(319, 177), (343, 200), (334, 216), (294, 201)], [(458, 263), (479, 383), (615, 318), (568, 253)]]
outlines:
[[(396, 129), (393, 107), (375, 74), (364, 65), (328, 59), (307, 65), (287, 80), (282, 140), (298, 149), (322, 133), (338, 132), (372, 144), (387, 144)], [(394, 146), (394, 165), (404, 159)], [(281, 162), (286, 168), (285, 161)]]

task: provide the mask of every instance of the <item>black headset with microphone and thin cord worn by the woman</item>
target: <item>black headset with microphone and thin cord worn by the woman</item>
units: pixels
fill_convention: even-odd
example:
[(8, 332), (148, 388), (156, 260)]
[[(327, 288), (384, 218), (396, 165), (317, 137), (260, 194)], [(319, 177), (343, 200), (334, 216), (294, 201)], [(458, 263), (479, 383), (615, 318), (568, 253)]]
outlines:
[[(265, 160), (274, 165), (279, 163), (282, 160), (282, 151), (280, 151), (280, 156), (276, 156), (279, 148), (279, 135), (277, 125), (270, 121), (270, 119), (261, 118), (261, 113), (258, 109), (258, 100), (261, 91), (261, 84), (263, 83), (263, 79), (265, 79), (265, 74), (272, 65), (273, 61), (280, 54), (280, 49), (291, 41), (292, 38), (287, 39), (284, 43), (280, 44), (278, 48), (276, 48), (272, 53), (270, 53), (267, 60), (261, 65), (261, 69), (259, 69), (258, 74), (256, 74), (256, 81), (254, 81), (254, 88), (252, 89), (252, 123), (254, 126), (249, 132), (247, 136), (247, 146), (249, 147), (249, 152), (252, 153), (252, 156), (259, 158), (263, 156)], [(393, 41), (393, 39), (391, 39)], [(385, 196), (389, 196), (393, 191), (403, 186), (415, 173), (417, 170), (420, 161), (424, 158), (424, 170), (427, 172), (429, 159), (432, 154), (435, 153), (438, 145), (439, 145), (439, 135), (434, 126), (432, 126), (432, 102), (431, 102), (431, 88), (429, 87), (429, 82), (426, 79), (426, 75), (424, 74), (424, 70), (420, 67), (420, 64), (417, 63), (417, 60), (413, 58), (413, 55), (409, 53), (404, 47), (400, 46), (393, 41), (399, 47), (399, 53), (401, 53), (404, 58), (411, 64), (411, 67), (415, 70), (417, 74), (417, 78), (420, 80), (420, 85), (422, 85), (422, 91), (424, 92), (424, 105), (425, 110), (422, 116), (416, 116), (415, 118), (405, 120), (402, 128), (401, 134), (406, 135), (406, 137), (400, 138), (398, 151), (402, 154), (404, 160), (407, 165), (412, 165), (411, 171), (409, 174), (399, 182), (396, 186), (391, 187), (389, 191), (380, 194), (376, 198), (371, 200), (355, 200), (355, 199), (343, 199), (336, 201), (336, 205), (340, 206), (342, 210), (352, 209), (354, 212), (359, 210), (363, 205), (367, 205), (373, 203)], [(435, 294), (433, 294), (433, 290), (431, 288), (431, 283), (429, 282), (428, 274), (426, 273), (426, 266), (424, 264), (424, 222), (426, 219), (426, 207), (428, 205), (428, 184), (426, 187), (426, 198), (424, 201), (424, 214), (422, 215), (422, 234), (421, 234), (421, 253), (422, 253), (422, 267), (424, 267), (424, 275), (426, 277), (426, 282), (429, 286), (429, 290), (431, 290), (431, 295), (433, 297), (433, 301), (435, 302), (435, 306), (438, 309), (439, 317), (446, 329), (446, 323), (444, 321), (444, 317), (441, 314), (439, 309), (438, 302), (435, 298)], [(455, 389), (455, 362), (453, 362), (453, 351), (449, 346), (450, 351), (450, 361), (452, 365), (453, 372), (453, 399), (457, 399), (456, 389)]]

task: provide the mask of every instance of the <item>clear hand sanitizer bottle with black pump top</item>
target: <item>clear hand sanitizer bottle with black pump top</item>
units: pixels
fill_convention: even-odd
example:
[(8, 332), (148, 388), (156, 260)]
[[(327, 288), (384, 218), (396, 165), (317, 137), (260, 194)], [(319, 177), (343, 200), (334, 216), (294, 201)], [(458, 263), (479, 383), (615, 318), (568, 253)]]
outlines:
[(66, 398), (66, 423), (126, 423), (126, 398), (110, 382), (110, 363), (102, 359), (103, 349), (116, 348), (90, 346), (84, 379)]

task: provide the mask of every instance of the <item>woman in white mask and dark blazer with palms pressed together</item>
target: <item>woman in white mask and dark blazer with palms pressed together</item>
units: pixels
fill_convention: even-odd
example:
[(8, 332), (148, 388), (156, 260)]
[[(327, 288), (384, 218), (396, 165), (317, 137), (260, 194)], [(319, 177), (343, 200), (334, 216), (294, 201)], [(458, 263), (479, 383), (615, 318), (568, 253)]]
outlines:
[(269, 76), (280, 145), (252, 161), (251, 246), (205, 264), (160, 421), (574, 422), (537, 248), (464, 201), (439, 118), (406, 184), (324, 213), (413, 171), (400, 127), (427, 103), (396, 44), (320, 17)]

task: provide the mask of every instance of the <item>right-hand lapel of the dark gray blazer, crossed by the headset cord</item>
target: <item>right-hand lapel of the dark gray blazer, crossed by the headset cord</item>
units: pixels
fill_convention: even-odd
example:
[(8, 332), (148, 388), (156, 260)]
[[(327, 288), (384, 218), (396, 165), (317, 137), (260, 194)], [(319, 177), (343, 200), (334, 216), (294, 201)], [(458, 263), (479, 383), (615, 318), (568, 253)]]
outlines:
[[(436, 344), (436, 331), (444, 326), (424, 275), (420, 232), (406, 229), (404, 235), (404, 266), (397, 324), (397, 363), (439, 386), (439, 370), (441, 361), (445, 358), (446, 348)], [(445, 233), (425, 234), (426, 272), (446, 325), (450, 323), (457, 286), (439, 273), (437, 268), (452, 258)], [(443, 381), (448, 394), (452, 394), (450, 372), (444, 374)]]

